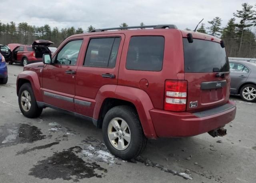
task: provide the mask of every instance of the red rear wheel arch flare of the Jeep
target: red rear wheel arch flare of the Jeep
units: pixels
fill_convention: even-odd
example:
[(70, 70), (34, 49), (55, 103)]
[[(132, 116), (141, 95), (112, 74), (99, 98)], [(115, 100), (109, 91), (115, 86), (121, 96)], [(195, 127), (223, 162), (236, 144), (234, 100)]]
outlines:
[(100, 88), (96, 96), (94, 119), (99, 119), (100, 108), (106, 98), (116, 98), (133, 103), (138, 111), (140, 122), (147, 138), (156, 139), (156, 132), (149, 111), (154, 109), (150, 97), (138, 88), (127, 86), (105, 85)]

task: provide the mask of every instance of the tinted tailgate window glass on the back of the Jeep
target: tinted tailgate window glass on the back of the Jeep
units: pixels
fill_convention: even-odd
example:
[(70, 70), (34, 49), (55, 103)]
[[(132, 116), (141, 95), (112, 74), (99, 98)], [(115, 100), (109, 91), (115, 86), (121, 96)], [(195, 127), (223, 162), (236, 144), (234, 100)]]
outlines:
[(185, 72), (228, 72), (225, 48), (220, 43), (183, 38)]

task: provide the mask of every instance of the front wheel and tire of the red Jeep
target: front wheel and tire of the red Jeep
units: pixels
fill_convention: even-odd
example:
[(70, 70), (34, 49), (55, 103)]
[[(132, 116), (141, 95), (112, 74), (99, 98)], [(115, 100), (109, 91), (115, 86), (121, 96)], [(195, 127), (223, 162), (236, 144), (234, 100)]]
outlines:
[[(27, 97), (27, 96), (30, 96), (30, 97)], [(30, 101), (30, 107), (28, 107), (29, 101)], [(25, 105), (26, 102), (27, 102), (27, 105)], [(34, 92), (29, 83), (25, 83), (20, 87), (20, 91), (19, 91), (19, 95), (18, 95), (18, 103), (20, 106), (20, 111), (22, 112), (22, 114), (24, 116), (26, 116), (28, 118), (39, 117), (42, 113), (43, 109), (38, 107), (38, 105), (36, 103), (36, 98), (34, 96)]]

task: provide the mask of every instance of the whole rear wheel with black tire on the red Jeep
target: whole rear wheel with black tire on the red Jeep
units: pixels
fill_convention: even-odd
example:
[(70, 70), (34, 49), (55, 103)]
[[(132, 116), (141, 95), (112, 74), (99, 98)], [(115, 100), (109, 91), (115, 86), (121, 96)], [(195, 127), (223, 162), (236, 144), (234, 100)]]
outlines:
[[(115, 120), (119, 126), (112, 125), (116, 124)], [(125, 123), (127, 127), (125, 127)], [(119, 127), (120, 129), (118, 129)], [(137, 157), (146, 147), (147, 138), (144, 135), (140, 119), (137, 112), (130, 106), (120, 105), (110, 109), (103, 119), (102, 132), (110, 153), (124, 160)], [(130, 142), (126, 141), (129, 139), (128, 135), (130, 135)], [(120, 143), (121, 141), (123, 143)]]

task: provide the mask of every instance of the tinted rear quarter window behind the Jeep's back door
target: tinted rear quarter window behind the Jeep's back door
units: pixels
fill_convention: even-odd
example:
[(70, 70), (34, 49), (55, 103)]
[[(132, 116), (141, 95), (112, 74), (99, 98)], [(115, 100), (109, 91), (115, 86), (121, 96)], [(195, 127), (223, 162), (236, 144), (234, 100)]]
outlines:
[(134, 36), (131, 38), (126, 58), (126, 69), (142, 71), (162, 70), (164, 37)]

